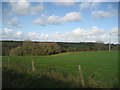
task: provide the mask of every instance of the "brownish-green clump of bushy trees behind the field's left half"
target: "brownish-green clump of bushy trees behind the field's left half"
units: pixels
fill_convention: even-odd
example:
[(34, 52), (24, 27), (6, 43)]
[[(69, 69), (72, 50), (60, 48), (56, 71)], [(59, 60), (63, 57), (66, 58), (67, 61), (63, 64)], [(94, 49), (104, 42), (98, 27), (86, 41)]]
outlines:
[[(10, 42), (9, 42), (10, 43)], [(32, 42), (32, 41), (24, 41), (24, 42), (11, 42), (9, 45), (8, 42), (3, 42), (3, 44), (7, 44), (2, 48), (3, 56), (44, 56), (44, 55), (52, 55), (62, 52), (62, 48), (57, 43), (48, 43), (48, 42)], [(16, 43), (16, 46), (14, 45)]]

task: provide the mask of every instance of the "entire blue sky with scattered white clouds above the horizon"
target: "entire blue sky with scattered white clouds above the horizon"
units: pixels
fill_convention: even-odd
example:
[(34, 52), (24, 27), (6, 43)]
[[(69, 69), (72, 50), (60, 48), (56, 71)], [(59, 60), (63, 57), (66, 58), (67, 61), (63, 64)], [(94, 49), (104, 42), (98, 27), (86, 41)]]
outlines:
[(0, 4), (2, 40), (118, 43), (117, 2), (23, 1)]

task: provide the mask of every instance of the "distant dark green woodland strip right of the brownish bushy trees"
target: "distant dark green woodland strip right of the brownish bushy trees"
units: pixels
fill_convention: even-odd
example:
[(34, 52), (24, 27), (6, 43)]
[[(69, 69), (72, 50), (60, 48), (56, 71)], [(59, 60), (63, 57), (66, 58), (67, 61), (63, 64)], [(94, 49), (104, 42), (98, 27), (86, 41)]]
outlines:
[[(72, 48), (74, 51), (99, 51), (108, 50), (109, 44), (103, 42), (80, 42), (80, 43), (61, 43), (58, 44), (65, 48)], [(111, 50), (118, 50), (118, 44), (111, 44)]]

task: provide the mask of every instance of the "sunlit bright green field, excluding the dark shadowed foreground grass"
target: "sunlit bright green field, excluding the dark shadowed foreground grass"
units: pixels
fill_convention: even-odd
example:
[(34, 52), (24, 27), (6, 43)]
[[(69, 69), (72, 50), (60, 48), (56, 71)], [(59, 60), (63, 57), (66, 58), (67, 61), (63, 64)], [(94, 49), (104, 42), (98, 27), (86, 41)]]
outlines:
[[(107, 85), (106, 87), (118, 86), (118, 51), (75, 52), (53, 56), (10, 56), (9, 68), (31, 74), (32, 60), (34, 60), (35, 63), (34, 74), (44, 71), (54, 71), (58, 72), (63, 77), (72, 76), (77, 78), (79, 77), (78, 64), (80, 64), (84, 82), (87, 82), (91, 77), (92, 80)], [(8, 67), (8, 56), (2, 57), (2, 63), (3, 67)], [(7, 72), (5, 74), (9, 73)], [(50, 87), (54, 86), (55, 84)], [(58, 87), (62, 86), (58, 85)]]

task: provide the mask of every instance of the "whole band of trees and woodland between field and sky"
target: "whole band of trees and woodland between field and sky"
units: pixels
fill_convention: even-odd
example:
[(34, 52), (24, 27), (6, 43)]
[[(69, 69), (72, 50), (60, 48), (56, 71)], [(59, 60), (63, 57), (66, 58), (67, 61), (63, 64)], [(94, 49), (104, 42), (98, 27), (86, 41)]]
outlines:
[[(63, 43), (63, 42), (32, 42), (2, 41), (2, 56), (45, 56), (63, 52), (108, 50), (108, 44), (97, 43)], [(118, 45), (112, 44), (112, 50)]]

